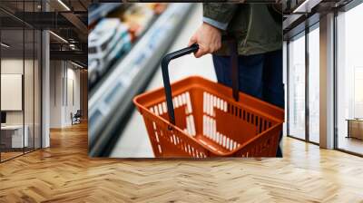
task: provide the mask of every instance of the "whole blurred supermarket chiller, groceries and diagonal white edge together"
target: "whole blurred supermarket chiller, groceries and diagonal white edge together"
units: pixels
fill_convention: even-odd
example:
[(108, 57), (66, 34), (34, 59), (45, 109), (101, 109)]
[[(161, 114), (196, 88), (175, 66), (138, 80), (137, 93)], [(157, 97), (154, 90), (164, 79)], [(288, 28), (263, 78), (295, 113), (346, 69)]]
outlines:
[(88, 74), (90, 156), (109, 156), (131, 118), (133, 97), (149, 85), (193, 8), (191, 3), (94, 6), (88, 54), (93, 64)]

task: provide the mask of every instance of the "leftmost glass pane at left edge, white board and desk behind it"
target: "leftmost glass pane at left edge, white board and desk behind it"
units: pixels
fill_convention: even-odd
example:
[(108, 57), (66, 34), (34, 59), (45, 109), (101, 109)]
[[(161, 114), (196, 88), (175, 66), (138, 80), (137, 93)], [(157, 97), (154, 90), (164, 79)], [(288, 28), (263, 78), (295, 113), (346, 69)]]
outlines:
[(1, 31), (1, 160), (24, 153), (28, 137), (24, 128), (24, 30)]

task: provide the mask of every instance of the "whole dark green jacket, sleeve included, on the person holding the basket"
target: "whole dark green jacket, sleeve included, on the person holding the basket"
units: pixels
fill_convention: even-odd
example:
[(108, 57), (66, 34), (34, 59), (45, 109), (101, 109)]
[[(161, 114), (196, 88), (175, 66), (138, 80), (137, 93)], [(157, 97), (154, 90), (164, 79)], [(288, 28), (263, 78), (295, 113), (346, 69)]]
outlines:
[[(223, 34), (238, 41), (240, 55), (268, 53), (282, 49), (282, 16), (264, 4), (203, 4), (203, 21), (228, 24)], [(206, 21), (207, 20), (207, 21)], [(211, 24), (213, 25), (213, 24)], [(225, 28), (225, 29), (223, 29)], [(228, 55), (226, 43), (216, 54)]]

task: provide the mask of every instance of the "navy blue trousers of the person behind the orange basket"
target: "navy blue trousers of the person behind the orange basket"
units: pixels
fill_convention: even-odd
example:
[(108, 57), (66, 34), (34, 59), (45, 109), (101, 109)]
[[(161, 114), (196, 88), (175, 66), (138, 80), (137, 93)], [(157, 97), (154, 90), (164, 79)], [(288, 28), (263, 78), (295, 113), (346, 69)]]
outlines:
[[(231, 87), (230, 57), (213, 55), (213, 63), (218, 82)], [(239, 56), (239, 82), (240, 92), (284, 108), (282, 50)], [(280, 146), (276, 157), (282, 157)]]

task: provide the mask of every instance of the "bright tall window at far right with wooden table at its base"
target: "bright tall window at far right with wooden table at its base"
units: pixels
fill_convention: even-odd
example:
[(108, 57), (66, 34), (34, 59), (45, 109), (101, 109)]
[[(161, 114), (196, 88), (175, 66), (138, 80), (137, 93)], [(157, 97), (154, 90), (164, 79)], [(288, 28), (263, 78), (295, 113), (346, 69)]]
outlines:
[(363, 154), (363, 4), (338, 14), (337, 147)]

